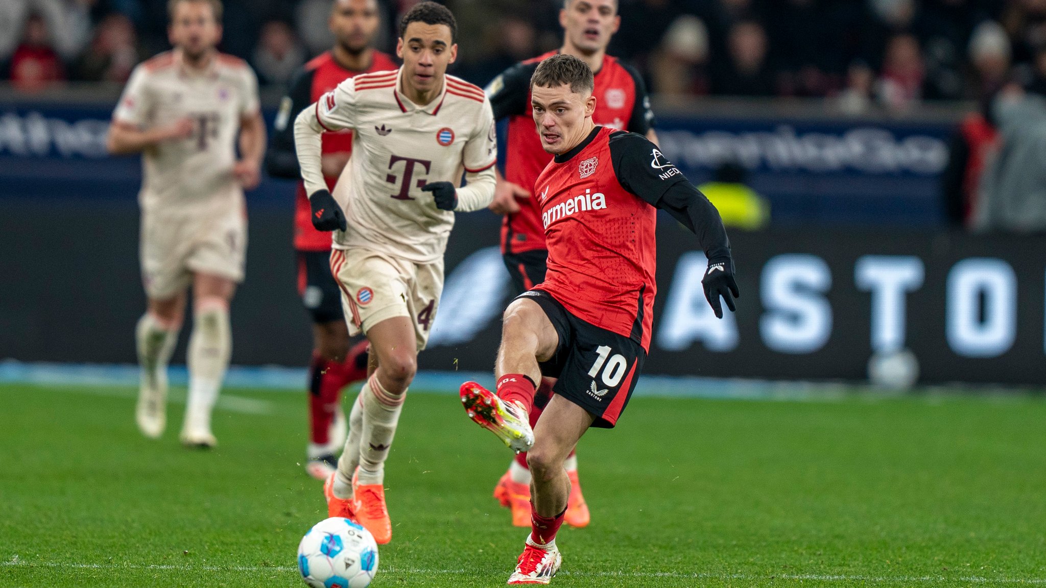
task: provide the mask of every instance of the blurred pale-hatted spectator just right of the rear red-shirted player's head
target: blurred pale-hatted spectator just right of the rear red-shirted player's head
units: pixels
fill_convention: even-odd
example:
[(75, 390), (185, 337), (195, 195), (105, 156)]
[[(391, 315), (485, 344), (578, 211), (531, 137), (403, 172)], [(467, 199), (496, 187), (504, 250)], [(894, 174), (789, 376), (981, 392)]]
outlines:
[(650, 60), (654, 91), (669, 96), (708, 93), (708, 29), (692, 15), (673, 21)]

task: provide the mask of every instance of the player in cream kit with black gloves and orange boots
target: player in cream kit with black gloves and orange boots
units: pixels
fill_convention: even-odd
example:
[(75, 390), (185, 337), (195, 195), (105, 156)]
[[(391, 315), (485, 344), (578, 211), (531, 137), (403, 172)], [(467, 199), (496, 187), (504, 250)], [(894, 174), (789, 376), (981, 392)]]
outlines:
[[(313, 224), (337, 229), (331, 268), (349, 332), (364, 333), (378, 358), (324, 495), (329, 516), (358, 520), (382, 544), (392, 536), (384, 462), (439, 306), (454, 212), (482, 209), (494, 197), (491, 104), (480, 88), (446, 74), (456, 36), (445, 6), (414, 5), (400, 22), (403, 67), (342, 82), (294, 125)], [(354, 132), (353, 157), (332, 195), (320, 136), (345, 129)]]

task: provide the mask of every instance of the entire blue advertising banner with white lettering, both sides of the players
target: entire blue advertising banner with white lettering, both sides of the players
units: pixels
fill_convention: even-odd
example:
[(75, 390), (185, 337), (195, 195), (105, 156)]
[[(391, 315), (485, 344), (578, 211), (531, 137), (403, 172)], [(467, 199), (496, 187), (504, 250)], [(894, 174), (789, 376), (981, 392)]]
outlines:
[[(0, 198), (134, 198), (137, 157), (110, 157), (111, 105), (0, 105)], [(268, 112), (271, 121), (274, 112)], [(725, 163), (771, 202), (775, 224), (940, 224), (947, 123), (660, 117), (661, 151), (696, 184)], [(267, 179), (251, 201), (287, 202)]]

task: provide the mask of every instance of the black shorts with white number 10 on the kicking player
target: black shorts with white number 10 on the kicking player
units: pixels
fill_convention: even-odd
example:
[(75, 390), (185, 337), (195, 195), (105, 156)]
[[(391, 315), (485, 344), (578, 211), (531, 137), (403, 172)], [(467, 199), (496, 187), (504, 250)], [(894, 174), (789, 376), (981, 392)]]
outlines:
[(613, 428), (643, 369), (642, 345), (575, 317), (543, 290), (519, 298), (538, 302), (560, 336), (552, 359), (540, 364), (543, 376), (559, 378), (552, 391), (595, 416), (593, 427)]

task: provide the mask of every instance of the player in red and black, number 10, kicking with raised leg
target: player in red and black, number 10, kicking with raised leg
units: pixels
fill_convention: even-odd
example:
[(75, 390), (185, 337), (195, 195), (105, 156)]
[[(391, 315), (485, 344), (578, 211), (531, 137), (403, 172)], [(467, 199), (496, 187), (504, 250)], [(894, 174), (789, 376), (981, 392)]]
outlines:
[[(555, 534), (570, 494), (567, 455), (590, 427), (611, 428), (642, 370), (653, 326), (657, 209), (698, 235), (708, 257), (705, 296), (738, 296), (730, 243), (715, 207), (657, 145), (596, 126), (592, 72), (572, 55), (535, 70), (531, 106), (542, 146), (554, 155), (535, 184), (548, 245), (545, 280), (504, 314), (497, 394), (461, 385), (469, 416), (517, 451), (528, 451), (531, 533), (508, 584), (547, 584), (562, 557)], [(531, 430), (542, 376), (554, 395)]]

